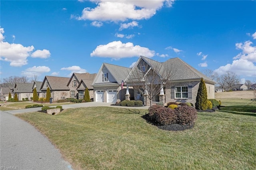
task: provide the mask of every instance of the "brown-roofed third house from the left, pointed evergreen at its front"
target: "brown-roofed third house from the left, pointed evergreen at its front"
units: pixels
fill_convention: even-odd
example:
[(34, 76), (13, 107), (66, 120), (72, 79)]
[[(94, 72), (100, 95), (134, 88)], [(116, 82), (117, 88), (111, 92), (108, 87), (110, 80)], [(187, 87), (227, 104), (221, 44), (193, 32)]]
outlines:
[(42, 91), (42, 97), (46, 97), (46, 90), (48, 87), (51, 91), (52, 101), (72, 97), (74, 94), (70, 93), (70, 89), (67, 86), (69, 80), (70, 78), (68, 77), (55, 77), (46, 75), (40, 87), (40, 90)]

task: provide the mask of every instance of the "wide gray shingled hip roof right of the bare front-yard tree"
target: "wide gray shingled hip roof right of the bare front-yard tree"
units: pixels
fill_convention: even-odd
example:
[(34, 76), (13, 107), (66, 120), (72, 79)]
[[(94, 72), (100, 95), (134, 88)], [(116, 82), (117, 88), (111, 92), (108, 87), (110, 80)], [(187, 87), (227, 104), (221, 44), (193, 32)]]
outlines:
[[(182, 61), (180, 58), (172, 58), (168, 59), (167, 61), (160, 63), (158, 61), (154, 61), (152, 59), (140, 56), (142, 59), (144, 59), (149, 65), (154, 67), (160, 68), (159, 73), (160, 75), (163, 75), (164, 69), (168, 67), (173, 67), (174, 70), (174, 76), (172, 77), (173, 81), (180, 81), (180, 80), (190, 80), (190, 79), (201, 79), (202, 77), (204, 80), (210, 81), (212, 83), (215, 83), (212, 79), (201, 73), (200, 71), (194, 69), (194, 67), (188, 65), (184, 61)], [(136, 66), (134, 66), (136, 67)]]

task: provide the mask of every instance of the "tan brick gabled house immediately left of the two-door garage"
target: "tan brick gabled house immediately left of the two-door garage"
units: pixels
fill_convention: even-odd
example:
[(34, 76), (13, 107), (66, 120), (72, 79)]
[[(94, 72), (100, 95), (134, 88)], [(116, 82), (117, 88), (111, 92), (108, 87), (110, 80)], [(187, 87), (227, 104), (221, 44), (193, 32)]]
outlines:
[(96, 73), (73, 73), (67, 84), (70, 89), (70, 97), (82, 99), (84, 97), (84, 90), (88, 87), (90, 90), (90, 98), (93, 98), (93, 87), (91, 84), (95, 76)]

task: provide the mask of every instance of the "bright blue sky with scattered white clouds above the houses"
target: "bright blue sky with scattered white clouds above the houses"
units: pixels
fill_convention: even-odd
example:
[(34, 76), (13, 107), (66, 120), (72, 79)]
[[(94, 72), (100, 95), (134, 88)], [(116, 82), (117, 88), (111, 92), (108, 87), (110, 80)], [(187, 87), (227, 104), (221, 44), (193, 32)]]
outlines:
[(0, 2), (0, 76), (97, 73), (140, 55), (256, 80), (256, 1)]

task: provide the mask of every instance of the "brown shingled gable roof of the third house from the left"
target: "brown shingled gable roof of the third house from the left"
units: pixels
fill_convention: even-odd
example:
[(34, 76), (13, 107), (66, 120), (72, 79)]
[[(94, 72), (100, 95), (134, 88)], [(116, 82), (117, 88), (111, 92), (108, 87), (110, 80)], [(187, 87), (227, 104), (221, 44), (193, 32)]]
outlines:
[[(44, 77), (44, 81), (42, 83), (42, 86), (44, 85), (44, 82), (48, 81), (49, 87), (52, 90), (69, 90), (69, 87), (67, 86), (69, 77), (55, 77), (55, 76), (48, 76), (46, 75)], [(40, 88), (40, 90), (47, 90), (47, 88)]]

